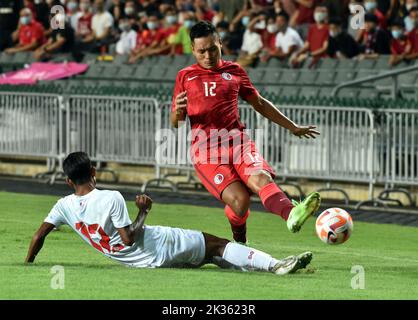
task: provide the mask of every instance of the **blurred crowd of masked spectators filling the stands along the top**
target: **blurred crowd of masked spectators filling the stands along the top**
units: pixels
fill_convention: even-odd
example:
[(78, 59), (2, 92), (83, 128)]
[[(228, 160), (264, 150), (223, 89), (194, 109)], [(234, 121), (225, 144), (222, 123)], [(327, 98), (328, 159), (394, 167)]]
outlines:
[(298, 67), (323, 57), (396, 65), (418, 57), (418, 0), (0, 0), (0, 52), (36, 60), (71, 53), (191, 54), (189, 30), (213, 23), (244, 67)]

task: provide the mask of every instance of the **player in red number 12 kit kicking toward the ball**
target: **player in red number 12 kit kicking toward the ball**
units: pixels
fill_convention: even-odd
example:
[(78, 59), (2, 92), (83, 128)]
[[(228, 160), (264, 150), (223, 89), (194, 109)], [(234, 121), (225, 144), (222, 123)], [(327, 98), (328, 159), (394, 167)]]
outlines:
[(225, 203), (235, 241), (247, 240), (251, 193), (259, 195), (267, 211), (287, 221), (291, 232), (299, 231), (318, 210), (320, 195), (314, 192), (303, 202), (292, 204), (274, 183), (273, 169), (244, 133), (238, 97), (298, 137), (315, 138), (319, 132), (314, 126), (300, 126), (288, 119), (258, 93), (241, 66), (221, 59), (222, 44), (212, 24), (198, 22), (190, 30), (190, 38), (197, 63), (177, 74), (171, 123), (177, 128), (189, 117), (193, 132), (191, 159), (199, 179)]

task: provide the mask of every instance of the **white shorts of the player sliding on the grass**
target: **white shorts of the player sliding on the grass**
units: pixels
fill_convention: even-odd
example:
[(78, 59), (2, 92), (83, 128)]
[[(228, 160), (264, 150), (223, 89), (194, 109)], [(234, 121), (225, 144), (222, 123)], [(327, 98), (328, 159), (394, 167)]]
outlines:
[(205, 258), (205, 238), (200, 231), (145, 226), (142, 245), (152, 257), (148, 267), (198, 267)]

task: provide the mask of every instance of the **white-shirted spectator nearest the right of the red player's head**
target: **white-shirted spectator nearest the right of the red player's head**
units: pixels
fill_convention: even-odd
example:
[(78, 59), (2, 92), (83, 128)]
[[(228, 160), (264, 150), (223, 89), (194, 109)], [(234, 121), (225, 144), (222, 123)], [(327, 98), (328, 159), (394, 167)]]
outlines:
[[(246, 17), (243, 17), (243, 19)], [(246, 25), (247, 23), (243, 22), (243, 24)], [(266, 24), (265, 15), (252, 16), (252, 19), (244, 32), (241, 51), (237, 59), (237, 63), (241, 65), (241, 67), (246, 68), (253, 66), (257, 61), (258, 56), (263, 49), (263, 39), (260, 35), (260, 30), (265, 29)]]

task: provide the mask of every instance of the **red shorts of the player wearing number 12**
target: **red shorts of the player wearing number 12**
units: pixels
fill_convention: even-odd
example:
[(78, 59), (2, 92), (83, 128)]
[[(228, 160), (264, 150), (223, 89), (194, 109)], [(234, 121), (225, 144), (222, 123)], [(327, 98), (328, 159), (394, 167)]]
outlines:
[(250, 176), (261, 170), (269, 172), (272, 178), (276, 176), (274, 170), (257, 151), (254, 141), (249, 139), (236, 145), (232, 143), (226, 147), (221, 145), (215, 155), (210, 154), (210, 151), (203, 156), (196, 155), (193, 163), (197, 176), (206, 190), (221, 201), (222, 192), (235, 181), (247, 185)]

